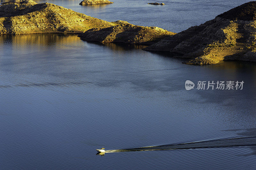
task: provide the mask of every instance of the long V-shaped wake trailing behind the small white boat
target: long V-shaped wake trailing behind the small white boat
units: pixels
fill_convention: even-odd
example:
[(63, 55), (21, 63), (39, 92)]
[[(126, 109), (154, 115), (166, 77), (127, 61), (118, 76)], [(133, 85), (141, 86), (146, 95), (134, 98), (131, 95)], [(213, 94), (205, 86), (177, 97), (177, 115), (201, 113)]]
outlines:
[(216, 139), (200, 142), (148, 146), (131, 149), (106, 150), (106, 152), (128, 152), (128, 151), (154, 151), (154, 150), (171, 150), (171, 149), (197, 149), (197, 148), (215, 148), (215, 147), (236, 147), (236, 146), (255, 146), (256, 136)]

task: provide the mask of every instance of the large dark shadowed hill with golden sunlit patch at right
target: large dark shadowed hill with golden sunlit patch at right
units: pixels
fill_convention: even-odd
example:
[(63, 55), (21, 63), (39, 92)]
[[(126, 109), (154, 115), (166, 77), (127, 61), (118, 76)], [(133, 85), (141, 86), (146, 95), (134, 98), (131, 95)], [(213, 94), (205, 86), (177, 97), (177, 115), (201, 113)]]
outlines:
[(220, 60), (256, 61), (256, 1), (233, 8), (215, 19), (166, 37), (148, 51), (171, 51), (191, 58), (187, 64)]

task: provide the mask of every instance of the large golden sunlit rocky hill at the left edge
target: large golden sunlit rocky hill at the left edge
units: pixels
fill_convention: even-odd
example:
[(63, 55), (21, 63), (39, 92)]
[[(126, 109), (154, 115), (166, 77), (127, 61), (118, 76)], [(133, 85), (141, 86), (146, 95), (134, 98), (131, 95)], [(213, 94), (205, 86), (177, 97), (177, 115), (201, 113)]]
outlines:
[(116, 24), (49, 3), (36, 4), (25, 0), (0, 6), (0, 34), (74, 33), (113, 25)]

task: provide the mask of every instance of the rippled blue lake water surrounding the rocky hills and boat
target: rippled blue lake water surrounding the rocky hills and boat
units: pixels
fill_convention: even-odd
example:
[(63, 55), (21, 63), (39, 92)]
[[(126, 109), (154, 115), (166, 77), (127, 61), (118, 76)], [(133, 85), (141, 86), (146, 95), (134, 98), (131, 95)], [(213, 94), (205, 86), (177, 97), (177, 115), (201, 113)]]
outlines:
[[(107, 21), (180, 32), (247, 1), (47, 2)], [(255, 63), (192, 66), (143, 47), (100, 45), (72, 34), (0, 35), (0, 169), (255, 169), (255, 146), (96, 155), (102, 146), (256, 136)], [(186, 80), (244, 86), (187, 91)]]

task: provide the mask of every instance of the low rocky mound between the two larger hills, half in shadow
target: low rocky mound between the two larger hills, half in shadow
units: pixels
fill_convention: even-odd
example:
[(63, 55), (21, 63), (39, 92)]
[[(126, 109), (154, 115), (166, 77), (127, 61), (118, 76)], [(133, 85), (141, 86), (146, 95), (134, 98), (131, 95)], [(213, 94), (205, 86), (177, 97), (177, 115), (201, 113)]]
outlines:
[(101, 43), (122, 42), (151, 45), (166, 36), (175, 34), (162, 28), (137, 26), (126, 21), (116, 21), (113, 24), (117, 25), (108, 28), (92, 28), (78, 36), (82, 40)]

